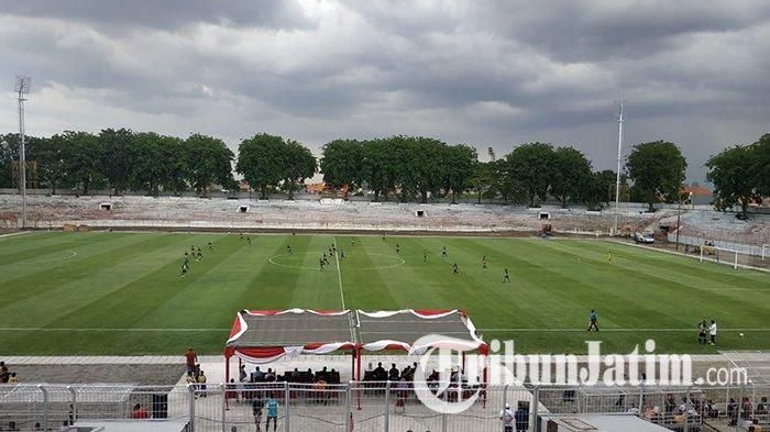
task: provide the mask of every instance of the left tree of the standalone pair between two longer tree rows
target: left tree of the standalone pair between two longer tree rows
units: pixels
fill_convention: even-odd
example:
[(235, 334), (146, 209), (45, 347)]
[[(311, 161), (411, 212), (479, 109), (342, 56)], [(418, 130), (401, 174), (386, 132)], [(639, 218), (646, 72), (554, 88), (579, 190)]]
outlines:
[(266, 133), (243, 140), (238, 147), (235, 171), (241, 174), (262, 199), (284, 179), (284, 139)]

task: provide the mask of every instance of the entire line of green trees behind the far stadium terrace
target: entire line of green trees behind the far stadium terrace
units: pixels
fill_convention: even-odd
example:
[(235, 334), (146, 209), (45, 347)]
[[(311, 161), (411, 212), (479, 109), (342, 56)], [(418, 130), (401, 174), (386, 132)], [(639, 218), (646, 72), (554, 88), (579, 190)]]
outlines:
[[(0, 187), (11, 187), (18, 135), (0, 135)], [(114, 193), (161, 190), (205, 193), (211, 185), (235, 190), (234, 170), (266, 198), (271, 191), (294, 193), (320, 168), (332, 188), (364, 188), (375, 200), (427, 202), (430, 196), (457, 196), (473, 190), (482, 198), (537, 206), (548, 197), (562, 207), (581, 202), (598, 209), (614, 199), (616, 175), (594, 171), (583, 153), (548, 143), (516, 146), (504, 157), (479, 162), (475, 148), (448, 145), (424, 136), (396, 135), (367, 141), (334, 140), (321, 149), (320, 160), (301, 143), (256, 134), (242, 140), (238, 158), (223, 141), (193, 134), (186, 140), (153, 132), (106, 129), (99, 134), (66, 131), (28, 140), (28, 160), (36, 163), (42, 185), (54, 191), (78, 188), (88, 193), (109, 187)], [(653, 204), (676, 202), (686, 160), (679, 147), (656, 141), (632, 147), (622, 176), (626, 199)], [(715, 187), (716, 206), (727, 209), (770, 193), (770, 134), (713, 156), (706, 166)], [(631, 186), (628, 187), (628, 184)]]

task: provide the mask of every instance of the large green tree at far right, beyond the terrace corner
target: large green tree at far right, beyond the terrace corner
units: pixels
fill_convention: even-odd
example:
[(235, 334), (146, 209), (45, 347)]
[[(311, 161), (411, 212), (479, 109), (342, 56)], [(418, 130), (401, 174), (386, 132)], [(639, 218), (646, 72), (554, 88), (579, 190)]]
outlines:
[(757, 158), (756, 145), (736, 145), (708, 158), (706, 180), (714, 184), (714, 207), (717, 210), (740, 204), (741, 217), (746, 219), (749, 202), (761, 202), (756, 175)]

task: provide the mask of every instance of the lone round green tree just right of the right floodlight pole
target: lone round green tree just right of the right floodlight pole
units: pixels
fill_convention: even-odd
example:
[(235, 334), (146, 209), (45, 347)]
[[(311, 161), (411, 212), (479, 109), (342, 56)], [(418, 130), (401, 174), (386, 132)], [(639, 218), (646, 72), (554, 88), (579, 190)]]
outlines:
[(632, 188), (654, 211), (661, 198), (676, 197), (684, 181), (688, 162), (676, 144), (666, 141), (637, 144), (628, 155), (626, 169)]

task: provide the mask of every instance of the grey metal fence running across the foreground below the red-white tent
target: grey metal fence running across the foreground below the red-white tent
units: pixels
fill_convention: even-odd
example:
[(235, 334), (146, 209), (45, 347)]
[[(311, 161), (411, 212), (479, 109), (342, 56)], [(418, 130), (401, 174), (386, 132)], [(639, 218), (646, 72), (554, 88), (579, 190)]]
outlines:
[[(440, 413), (426, 407), (415, 386), (444, 402), (476, 397), (469, 409)], [(498, 432), (501, 411), (527, 413), (529, 430), (540, 414), (628, 414), (676, 431), (747, 429), (755, 421), (766, 429), (762, 411), (770, 386), (740, 387), (450, 387), (438, 392), (431, 384), (350, 383), (231, 384), (207, 386), (14, 385), (0, 386), (0, 428), (57, 431), (87, 421), (182, 421), (188, 431), (446, 431)], [(266, 405), (277, 402), (268, 419)], [(255, 408), (260, 408), (255, 410)], [(258, 414), (255, 414), (258, 412)], [(11, 429), (13, 422), (16, 429)], [(276, 425), (273, 425), (276, 423)]]

